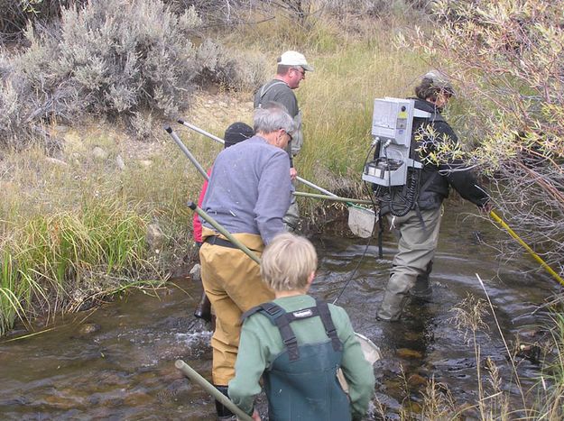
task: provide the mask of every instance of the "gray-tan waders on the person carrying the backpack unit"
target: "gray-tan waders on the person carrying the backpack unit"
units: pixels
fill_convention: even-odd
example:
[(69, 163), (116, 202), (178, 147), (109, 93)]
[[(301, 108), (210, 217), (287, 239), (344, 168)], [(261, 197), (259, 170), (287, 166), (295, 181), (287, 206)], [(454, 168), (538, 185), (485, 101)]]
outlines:
[[(388, 215), (392, 228), (399, 233), (398, 252), (393, 258), (390, 280), (385, 289), (384, 299), (377, 312), (381, 320), (399, 320), (409, 297), (410, 289), (420, 283), (413, 295), (428, 295), (430, 264), (439, 241), (439, 227), (442, 206), (436, 209), (411, 210), (404, 216)], [(420, 217), (421, 215), (421, 217)], [(423, 224), (421, 224), (421, 220)], [(427, 281), (427, 287), (422, 283)]]

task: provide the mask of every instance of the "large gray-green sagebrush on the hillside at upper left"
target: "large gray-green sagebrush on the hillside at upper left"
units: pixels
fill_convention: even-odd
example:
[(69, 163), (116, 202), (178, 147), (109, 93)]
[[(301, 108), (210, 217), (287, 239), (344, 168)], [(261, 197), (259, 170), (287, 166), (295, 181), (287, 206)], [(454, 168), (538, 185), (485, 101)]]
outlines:
[(21, 144), (37, 122), (85, 113), (175, 116), (197, 83), (246, 83), (244, 66), (200, 41), (200, 25), (192, 8), (172, 14), (160, 0), (99, 0), (28, 27), (29, 47), (0, 55), (0, 144)]

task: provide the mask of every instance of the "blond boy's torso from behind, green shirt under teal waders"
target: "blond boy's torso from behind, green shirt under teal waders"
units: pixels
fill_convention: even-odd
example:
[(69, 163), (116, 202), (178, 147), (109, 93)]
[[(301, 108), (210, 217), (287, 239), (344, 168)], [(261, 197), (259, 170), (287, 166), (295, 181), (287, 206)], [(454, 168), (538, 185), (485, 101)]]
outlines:
[[(242, 359), (251, 357), (247, 353), (249, 346), (258, 346), (264, 352), (269, 419), (350, 420), (347, 395), (336, 376), (342, 365), (343, 343), (356, 341), (352, 329), (347, 328), (350, 322), (345, 310), (326, 303), (316, 306), (315, 299), (308, 295), (277, 298), (264, 306), (267, 309), (254, 310), (256, 313), (246, 319), (244, 327), (260, 338), (260, 344), (245, 343), (240, 355)], [(328, 311), (328, 326), (318, 314), (323, 306)], [(277, 323), (289, 319), (294, 319), (289, 328), (281, 330)], [(358, 361), (363, 360), (361, 357)], [(371, 368), (366, 371), (371, 372)]]

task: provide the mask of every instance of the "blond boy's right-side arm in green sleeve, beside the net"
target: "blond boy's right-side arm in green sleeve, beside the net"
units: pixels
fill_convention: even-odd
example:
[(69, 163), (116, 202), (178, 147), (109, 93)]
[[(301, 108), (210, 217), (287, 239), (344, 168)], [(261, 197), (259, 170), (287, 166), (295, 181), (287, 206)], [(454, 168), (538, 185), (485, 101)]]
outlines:
[(350, 323), (347, 312), (336, 307), (334, 317), (337, 334), (343, 343), (343, 359), (341, 369), (347, 379), (348, 396), (350, 398), (353, 419), (361, 419), (368, 410), (370, 399), (374, 395), (374, 370), (365, 360), (360, 343), (356, 340), (355, 331)]

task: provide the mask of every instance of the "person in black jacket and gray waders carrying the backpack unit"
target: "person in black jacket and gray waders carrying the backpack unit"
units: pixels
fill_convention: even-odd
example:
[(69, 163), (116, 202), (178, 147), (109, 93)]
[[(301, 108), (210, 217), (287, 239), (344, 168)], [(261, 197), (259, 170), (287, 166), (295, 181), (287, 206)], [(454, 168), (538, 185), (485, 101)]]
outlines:
[[(448, 78), (435, 71), (425, 74), (415, 87), (415, 108), (429, 113), (429, 117), (413, 119), (411, 133), (411, 156), (421, 161), (423, 169), (413, 170), (408, 184), (389, 187), (379, 198), (384, 204), (381, 214), (387, 214), (398, 234), (398, 252), (376, 312), (377, 320), (397, 321), (410, 297), (423, 302), (432, 297), (429, 277), (439, 243), (442, 202), (448, 197), (449, 188), (455, 188), (461, 197), (480, 209), (489, 206), (488, 196), (477, 184), (472, 170), (456, 154), (445, 157), (439, 153), (448, 148), (456, 150), (458, 146), (457, 135), (440, 114), (453, 94)], [(413, 193), (412, 200), (405, 200), (403, 191), (408, 190)], [(394, 204), (399, 204), (399, 208), (394, 210)]]

